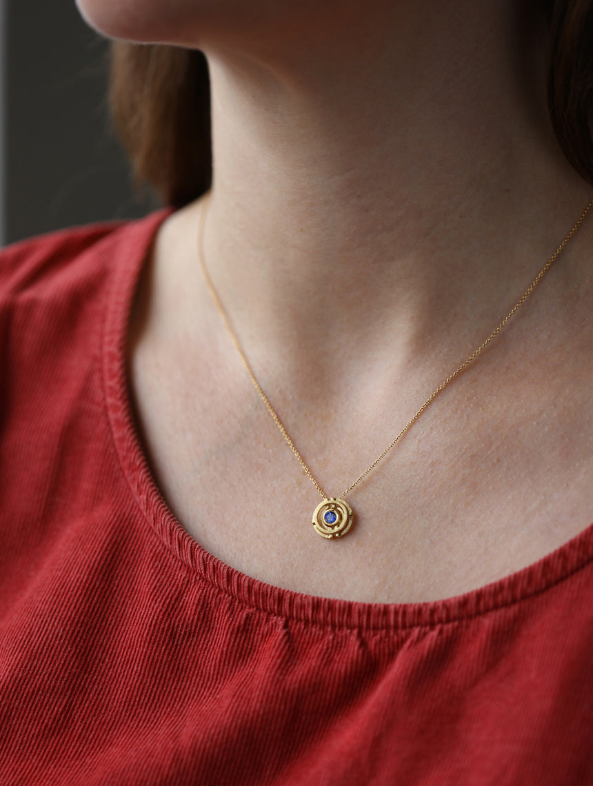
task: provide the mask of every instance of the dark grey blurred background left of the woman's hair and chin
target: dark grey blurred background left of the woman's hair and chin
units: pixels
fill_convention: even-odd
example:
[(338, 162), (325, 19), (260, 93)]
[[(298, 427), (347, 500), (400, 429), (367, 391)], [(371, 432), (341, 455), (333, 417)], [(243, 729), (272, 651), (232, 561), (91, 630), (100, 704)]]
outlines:
[(108, 45), (74, 0), (2, 5), (0, 242), (143, 215), (109, 128)]

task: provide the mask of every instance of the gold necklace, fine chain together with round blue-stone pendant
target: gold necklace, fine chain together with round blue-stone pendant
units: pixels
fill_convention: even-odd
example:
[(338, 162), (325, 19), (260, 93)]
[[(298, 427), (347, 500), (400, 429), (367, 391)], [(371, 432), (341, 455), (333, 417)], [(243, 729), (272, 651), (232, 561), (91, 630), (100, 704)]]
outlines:
[(578, 230), (580, 225), (584, 222), (587, 213), (591, 210), (591, 208), (593, 208), (593, 200), (591, 200), (591, 202), (587, 204), (587, 208), (585, 208), (583, 213), (580, 215), (578, 221), (576, 221), (576, 223), (569, 231), (569, 233), (566, 235), (562, 243), (554, 251), (550, 259), (547, 260), (547, 263), (536, 275), (536, 277), (533, 279), (529, 287), (517, 300), (517, 303), (515, 303), (514, 307), (509, 311), (508, 314), (506, 314), (506, 317), (503, 319), (503, 321), (501, 321), (499, 325), (497, 325), (496, 328), (492, 331), (492, 333), (488, 336), (488, 338), (483, 343), (481, 343), (480, 346), (477, 347), (477, 349), (472, 352), (472, 354), (470, 354), (470, 357), (467, 358), (464, 362), (462, 362), (462, 364), (459, 366), (458, 369), (456, 369), (452, 374), (450, 374), (447, 377), (446, 380), (443, 380), (440, 383), (440, 385), (435, 388), (435, 390), (429, 395), (429, 398), (426, 399), (426, 401), (422, 404), (420, 409), (410, 418), (409, 421), (407, 421), (407, 424), (405, 424), (405, 426), (402, 428), (400, 433), (397, 434), (392, 439), (392, 441), (385, 448), (385, 450), (383, 450), (381, 455), (379, 455), (373, 461), (373, 463), (369, 467), (367, 467), (365, 471), (358, 476), (358, 478), (355, 479), (354, 483), (351, 483), (348, 486), (348, 488), (344, 489), (344, 491), (342, 491), (339, 497), (328, 497), (325, 491), (318, 483), (318, 481), (313, 476), (311, 470), (305, 464), (303, 457), (300, 455), (299, 451), (295, 447), (293, 440), (290, 439), (288, 432), (284, 428), (282, 421), (280, 420), (278, 414), (276, 413), (276, 410), (274, 410), (274, 407), (271, 405), (270, 399), (267, 398), (267, 395), (263, 392), (260, 383), (257, 381), (256, 375), (253, 373), (252, 368), (249, 365), (249, 361), (247, 360), (247, 358), (245, 357), (245, 353), (241, 349), (241, 344), (239, 343), (237, 336), (235, 336), (234, 330), (230, 326), (230, 321), (223, 308), (223, 304), (220, 302), (218, 293), (216, 292), (214, 285), (212, 284), (212, 280), (208, 274), (208, 269), (206, 267), (206, 263), (204, 260), (204, 223), (206, 219), (206, 213), (207, 213), (206, 207), (208, 204), (208, 200), (209, 200), (209, 195), (204, 199), (204, 204), (202, 204), (201, 207), (200, 223), (199, 223), (199, 230), (198, 230), (198, 258), (200, 261), (202, 274), (204, 275), (204, 281), (206, 282), (206, 286), (208, 287), (208, 292), (210, 292), (210, 296), (212, 297), (212, 300), (214, 301), (215, 306), (219, 311), (223, 323), (227, 328), (230, 339), (234, 343), (234, 347), (238, 351), (239, 357), (241, 358), (241, 361), (243, 362), (243, 365), (245, 366), (245, 369), (249, 374), (249, 378), (251, 379), (253, 386), (256, 388), (256, 391), (260, 394), (260, 398), (262, 399), (263, 403), (266, 405), (267, 411), (271, 414), (271, 417), (274, 419), (274, 423), (278, 426), (278, 428), (282, 432), (282, 436), (286, 440), (286, 443), (288, 443), (290, 450), (293, 451), (293, 454), (299, 460), (300, 466), (307, 473), (309, 479), (311, 480), (311, 483), (313, 483), (315, 488), (319, 491), (319, 494), (321, 494), (322, 501), (319, 502), (319, 505), (317, 505), (317, 507), (315, 508), (311, 523), (313, 524), (313, 527), (315, 527), (315, 531), (318, 534), (320, 534), (322, 538), (329, 538), (329, 539), (343, 537), (352, 527), (352, 521), (354, 515), (352, 512), (352, 508), (350, 507), (350, 505), (348, 505), (348, 502), (344, 500), (344, 497), (347, 494), (349, 494), (353, 489), (355, 489), (355, 487), (358, 486), (358, 484), (360, 483), (361, 480), (363, 480), (363, 478), (366, 478), (369, 472), (371, 472), (378, 465), (379, 461), (381, 461), (381, 459), (384, 458), (389, 453), (389, 450), (391, 450), (394, 445), (400, 442), (400, 439), (403, 437), (403, 435), (406, 434), (407, 431), (409, 431), (411, 426), (414, 425), (414, 423), (418, 420), (418, 417), (420, 417), (422, 413), (425, 412), (425, 410), (433, 403), (434, 399), (436, 399), (436, 396), (442, 393), (445, 387), (448, 387), (448, 385), (450, 385), (451, 382), (459, 376), (459, 374), (465, 371), (465, 369), (471, 363), (473, 363), (473, 361), (477, 358), (477, 356), (481, 354), (481, 352), (484, 351), (486, 347), (488, 347), (488, 344), (492, 340), (494, 340), (496, 336), (498, 336), (499, 332), (503, 329), (506, 323), (515, 314), (515, 312), (523, 305), (523, 303), (525, 303), (525, 300), (531, 295), (531, 293), (536, 288), (536, 286), (540, 283), (544, 275), (547, 274), (547, 271), (550, 270), (551, 266), (558, 258), (558, 255), (560, 255), (560, 252), (562, 252), (562, 249), (573, 238), (574, 234), (576, 233), (576, 230)]

